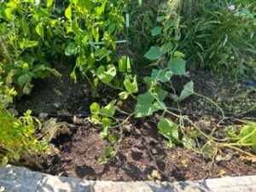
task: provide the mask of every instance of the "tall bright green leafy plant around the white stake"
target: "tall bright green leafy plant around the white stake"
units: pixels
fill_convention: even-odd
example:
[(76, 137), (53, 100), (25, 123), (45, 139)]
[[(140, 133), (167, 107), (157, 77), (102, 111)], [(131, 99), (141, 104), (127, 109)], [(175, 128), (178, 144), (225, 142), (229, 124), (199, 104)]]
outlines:
[(76, 68), (79, 68), (93, 86), (98, 80), (105, 84), (113, 80), (117, 74), (114, 64), (118, 62), (113, 50), (124, 28), (124, 11), (125, 1), (69, 1), (64, 27), (70, 43), (65, 55), (76, 58), (73, 79), (76, 80)]

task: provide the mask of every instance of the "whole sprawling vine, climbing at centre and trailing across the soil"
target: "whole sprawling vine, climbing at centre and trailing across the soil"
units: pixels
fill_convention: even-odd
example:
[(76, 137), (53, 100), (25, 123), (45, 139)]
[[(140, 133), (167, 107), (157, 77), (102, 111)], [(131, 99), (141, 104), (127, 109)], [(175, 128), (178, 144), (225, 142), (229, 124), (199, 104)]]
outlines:
[[(138, 89), (137, 77), (134, 76), (124, 82), (125, 89), (119, 93), (119, 99), (121, 100), (126, 100), (129, 97), (136, 100), (137, 104), (133, 113), (126, 113), (126, 118), (122, 120), (115, 118), (114, 114), (117, 110), (123, 113), (114, 105), (117, 102), (116, 100), (105, 107), (100, 107), (100, 104), (96, 102), (90, 106), (92, 113), (90, 120), (95, 124), (102, 125), (101, 136), (108, 138), (111, 143), (105, 148), (105, 152), (98, 162), (106, 164), (113, 159), (119, 150), (124, 125), (131, 117), (145, 118), (154, 115), (154, 113), (160, 114), (157, 128), (160, 135), (168, 140), (167, 148), (175, 148), (182, 144), (184, 148), (188, 148), (210, 160), (219, 159), (222, 148), (231, 148), (241, 154), (253, 157), (256, 146), (256, 132), (253, 122), (243, 121), (242, 125), (231, 126), (228, 131), (224, 132), (225, 138), (217, 138), (214, 137), (216, 128), (212, 129), (210, 134), (206, 133), (200, 126), (195, 125), (193, 120), (189, 119), (189, 116), (183, 115), (179, 108), (173, 111), (172, 106), (166, 105), (167, 97), (179, 106), (179, 102), (191, 95), (200, 96), (218, 108), (222, 116), (220, 122), (226, 119), (222, 108), (219, 108), (210, 98), (195, 92), (193, 81), (184, 84), (180, 93), (177, 93), (172, 85), (172, 77), (186, 75), (185, 55), (178, 51), (178, 44), (181, 40), (180, 32), (183, 28), (180, 25), (179, 15), (172, 7), (170, 8), (167, 3), (164, 3), (159, 16), (156, 18), (155, 25), (151, 34), (157, 44), (151, 46), (144, 55), (145, 58), (152, 61), (151, 66), (154, 67), (151, 75), (143, 78), (147, 84), (147, 90), (141, 93)], [(168, 90), (165, 90), (164, 87)], [(180, 113), (177, 113), (177, 111)], [(170, 119), (170, 116), (177, 119), (177, 122)], [(189, 126), (192, 126), (194, 131), (189, 131)], [(110, 128), (119, 128), (120, 136), (113, 136), (109, 131)], [(238, 129), (239, 132), (234, 131), (235, 129)], [(201, 143), (198, 142), (199, 138), (202, 141)], [(250, 147), (252, 153), (244, 151), (242, 147)]]

